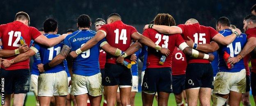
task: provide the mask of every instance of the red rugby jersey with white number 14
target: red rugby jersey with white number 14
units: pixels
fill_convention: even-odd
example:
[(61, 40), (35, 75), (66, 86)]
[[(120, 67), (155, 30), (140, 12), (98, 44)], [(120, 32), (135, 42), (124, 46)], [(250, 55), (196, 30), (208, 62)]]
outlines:
[[(137, 30), (130, 25), (124, 24), (121, 20), (115, 21), (111, 24), (105, 24), (101, 29), (106, 32), (107, 42), (116, 48), (119, 48), (121, 51), (126, 51), (131, 44), (131, 35)], [(126, 57), (125, 60), (130, 62), (129, 57)], [(117, 57), (107, 53), (106, 62), (116, 64)]]

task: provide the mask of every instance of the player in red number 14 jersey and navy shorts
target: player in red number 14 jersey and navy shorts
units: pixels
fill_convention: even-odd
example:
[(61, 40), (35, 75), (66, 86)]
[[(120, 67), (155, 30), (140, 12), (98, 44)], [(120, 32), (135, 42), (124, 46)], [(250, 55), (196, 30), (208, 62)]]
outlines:
[[(164, 55), (169, 55), (169, 50), (161, 48), (152, 42), (149, 38), (139, 34), (137, 30), (129, 25), (124, 24), (121, 21), (121, 16), (117, 13), (112, 13), (107, 18), (107, 24), (103, 25), (99, 31), (97, 31), (94, 38), (89, 40), (85, 45), (76, 51), (70, 53), (71, 57), (75, 58), (83, 51), (87, 51), (89, 48), (97, 44), (100, 40), (106, 37), (107, 42), (113, 46), (126, 51), (131, 43), (131, 39), (138, 40), (142, 44), (155, 48)], [(132, 54), (132, 53), (131, 53)], [(130, 62), (127, 52), (122, 53), (117, 57), (107, 53), (107, 60), (105, 64), (103, 86), (107, 96), (107, 105), (114, 106), (116, 103), (117, 87), (120, 88), (120, 99), (122, 106), (130, 106), (130, 92), (132, 86), (132, 73), (129, 68), (120, 66), (117, 64), (122, 63), (123, 60)], [(125, 59), (124, 59), (125, 58)], [(117, 60), (117, 62), (116, 62)]]

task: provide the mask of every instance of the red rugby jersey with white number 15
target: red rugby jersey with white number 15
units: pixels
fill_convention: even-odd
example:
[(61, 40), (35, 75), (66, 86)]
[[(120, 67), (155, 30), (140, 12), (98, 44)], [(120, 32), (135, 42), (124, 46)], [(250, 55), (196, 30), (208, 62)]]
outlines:
[[(213, 37), (218, 34), (218, 32), (212, 27), (205, 27), (199, 23), (195, 24), (179, 24), (178, 27), (182, 29), (182, 35), (184, 40), (188, 40), (190, 37), (196, 44), (210, 44)], [(210, 63), (205, 59), (194, 59), (189, 58), (188, 63)]]

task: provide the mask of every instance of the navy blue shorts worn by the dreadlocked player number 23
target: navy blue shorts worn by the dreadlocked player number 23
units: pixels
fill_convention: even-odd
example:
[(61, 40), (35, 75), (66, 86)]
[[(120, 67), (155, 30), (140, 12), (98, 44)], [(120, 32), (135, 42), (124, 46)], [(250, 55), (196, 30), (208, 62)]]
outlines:
[(146, 68), (142, 91), (172, 93), (171, 68)]

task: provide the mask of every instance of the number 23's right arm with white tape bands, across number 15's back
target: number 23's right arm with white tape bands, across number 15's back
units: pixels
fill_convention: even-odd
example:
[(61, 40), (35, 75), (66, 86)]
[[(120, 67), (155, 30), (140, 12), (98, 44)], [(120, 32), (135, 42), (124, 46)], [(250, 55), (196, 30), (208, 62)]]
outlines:
[(195, 49), (192, 49), (191, 47), (189, 47), (185, 42), (181, 43), (178, 46), (179, 49), (181, 49), (181, 51), (183, 51), (183, 53), (185, 53), (187, 56), (189, 57), (194, 57), (194, 58), (198, 58), (198, 59), (206, 59), (209, 61), (213, 61), (214, 60), (214, 55), (208, 55), (205, 53), (201, 53)]

